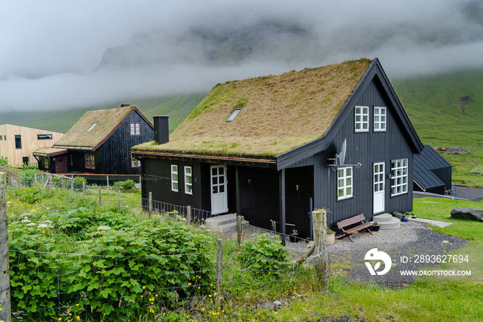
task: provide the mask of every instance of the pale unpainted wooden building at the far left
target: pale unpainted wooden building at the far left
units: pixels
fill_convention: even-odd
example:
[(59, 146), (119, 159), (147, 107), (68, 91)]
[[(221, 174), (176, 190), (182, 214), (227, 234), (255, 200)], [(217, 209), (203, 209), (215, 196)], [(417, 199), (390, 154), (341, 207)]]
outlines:
[(37, 163), (33, 156), (34, 151), (50, 148), (55, 141), (62, 138), (62, 135), (63, 133), (2, 124), (0, 125), (0, 158), (7, 159), (13, 167)]

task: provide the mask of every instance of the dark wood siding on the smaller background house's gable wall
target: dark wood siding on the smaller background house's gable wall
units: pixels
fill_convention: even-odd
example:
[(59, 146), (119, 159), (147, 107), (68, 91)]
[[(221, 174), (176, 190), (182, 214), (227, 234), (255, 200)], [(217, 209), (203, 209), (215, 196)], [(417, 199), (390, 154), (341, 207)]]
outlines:
[[(141, 135), (130, 135), (129, 123), (141, 124)], [(140, 174), (139, 167), (131, 167), (130, 148), (143, 142), (154, 140), (152, 127), (136, 112), (131, 113), (110, 138), (102, 144), (99, 151), (97, 173), (105, 174)], [(97, 164), (96, 164), (97, 166)]]

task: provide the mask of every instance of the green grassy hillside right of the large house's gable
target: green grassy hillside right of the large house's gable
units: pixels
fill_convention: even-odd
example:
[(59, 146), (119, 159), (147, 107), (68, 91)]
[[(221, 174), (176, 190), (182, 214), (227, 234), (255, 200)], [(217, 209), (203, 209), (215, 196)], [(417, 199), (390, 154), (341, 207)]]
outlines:
[(483, 187), (483, 70), (395, 80), (395, 91), (417, 134), (431, 146), (462, 146), (471, 153), (442, 153), (453, 180)]

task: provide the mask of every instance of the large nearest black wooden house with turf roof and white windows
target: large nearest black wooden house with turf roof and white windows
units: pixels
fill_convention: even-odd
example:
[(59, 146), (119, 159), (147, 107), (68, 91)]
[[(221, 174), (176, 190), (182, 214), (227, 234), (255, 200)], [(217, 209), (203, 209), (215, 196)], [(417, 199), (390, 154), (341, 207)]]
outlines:
[(132, 149), (143, 198), (302, 236), (312, 208), (332, 228), (413, 208), (422, 143), (378, 59), (218, 84), (168, 140), (167, 124)]

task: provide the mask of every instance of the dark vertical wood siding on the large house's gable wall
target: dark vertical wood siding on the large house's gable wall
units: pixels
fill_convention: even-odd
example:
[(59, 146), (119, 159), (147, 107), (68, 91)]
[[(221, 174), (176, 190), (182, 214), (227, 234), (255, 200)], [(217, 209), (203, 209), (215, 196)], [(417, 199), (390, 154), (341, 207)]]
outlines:
[[(328, 149), (315, 155), (314, 159), (314, 205), (330, 211), (330, 227), (335, 222), (357, 214), (364, 214), (366, 219), (371, 220), (375, 162), (385, 162), (385, 211), (411, 211), (413, 206), (413, 151), (406, 138), (406, 131), (395, 115), (395, 108), (377, 79), (368, 84), (355, 105), (369, 106), (369, 131), (355, 133), (354, 113), (349, 113)], [(386, 132), (373, 131), (374, 106), (387, 108)], [(353, 167), (353, 198), (337, 201), (337, 172), (327, 167), (327, 159), (334, 158), (335, 153), (339, 153), (344, 138), (347, 141), (345, 164), (360, 163), (361, 166), (358, 169)], [(404, 158), (408, 159), (408, 193), (391, 196), (391, 179), (388, 178), (391, 173), (391, 160)]]

